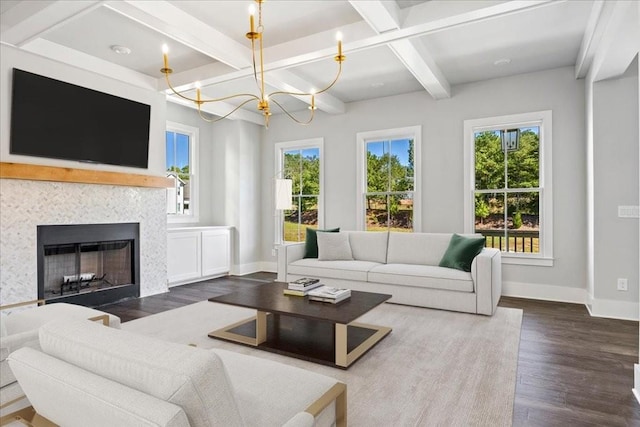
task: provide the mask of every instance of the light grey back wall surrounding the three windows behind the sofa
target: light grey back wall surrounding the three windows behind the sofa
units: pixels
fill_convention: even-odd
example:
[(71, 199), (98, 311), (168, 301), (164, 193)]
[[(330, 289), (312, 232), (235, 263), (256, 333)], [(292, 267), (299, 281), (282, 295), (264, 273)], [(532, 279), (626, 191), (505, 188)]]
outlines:
[[(426, 92), (355, 102), (344, 115), (318, 113), (309, 126), (274, 116), (265, 132), (264, 206), (273, 175), (274, 143), (325, 141), (325, 226), (356, 227), (356, 133), (422, 125), (422, 229), (463, 232), (463, 122), (530, 111), (553, 111), (554, 266), (504, 265), (512, 294), (585, 302), (586, 199), (584, 81), (573, 67), (454, 86), (450, 99)], [(273, 262), (272, 214), (262, 221), (262, 257)], [(511, 291), (509, 291), (511, 289)]]

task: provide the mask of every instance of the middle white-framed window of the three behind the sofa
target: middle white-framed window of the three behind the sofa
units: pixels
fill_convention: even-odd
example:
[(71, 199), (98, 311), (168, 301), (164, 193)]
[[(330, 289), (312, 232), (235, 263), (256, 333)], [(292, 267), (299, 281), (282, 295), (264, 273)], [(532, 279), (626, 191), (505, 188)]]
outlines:
[(357, 134), (359, 229), (420, 231), (421, 133), (413, 126)]

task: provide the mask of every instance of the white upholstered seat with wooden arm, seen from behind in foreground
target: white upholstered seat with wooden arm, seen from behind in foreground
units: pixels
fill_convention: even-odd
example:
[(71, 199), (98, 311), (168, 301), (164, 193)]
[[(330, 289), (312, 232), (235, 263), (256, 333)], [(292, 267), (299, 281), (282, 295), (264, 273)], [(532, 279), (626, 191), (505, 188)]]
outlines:
[(38, 417), (61, 426), (346, 425), (346, 385), (284, 364), (84, 320), (40, 328), (9, 365)]

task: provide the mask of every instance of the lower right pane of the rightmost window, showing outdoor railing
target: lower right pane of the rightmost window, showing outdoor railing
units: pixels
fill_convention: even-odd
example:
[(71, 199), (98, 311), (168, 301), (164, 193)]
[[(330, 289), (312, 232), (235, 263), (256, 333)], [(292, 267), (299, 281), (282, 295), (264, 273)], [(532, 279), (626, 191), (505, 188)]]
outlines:
[(507, 194), (507, 252), (540, 252), (540, 193)]

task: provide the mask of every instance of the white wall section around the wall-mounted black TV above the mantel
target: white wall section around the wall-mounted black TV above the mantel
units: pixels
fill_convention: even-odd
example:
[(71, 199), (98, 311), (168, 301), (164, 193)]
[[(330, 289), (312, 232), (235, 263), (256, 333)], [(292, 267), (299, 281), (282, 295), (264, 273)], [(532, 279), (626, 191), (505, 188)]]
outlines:
[[(2, 58), (2, 61), (0, 61), (0, 93), (2, 93), (2, 96), (0, 97), (0, 159), (3, 162), (32, 163), (47, 166), (164, 176), (166, 101), (163, 94), (110, 79), (89, 71), (81, 70), (61, 62), (52, 61), (6, 45), (0, 45), (0, 58)], [(10, 94), (13, 68), (19, 68), (21, 70), (40, 74), (56, 80), (65, 81), (78, 86), (83, 86), (150, 105), (149, 168), (140, 169), (126, 166), (88, 164), (72, 160), (46, 159), (42, 157), (10, 154)], [(34, 126), (37, 126), (37, 123), (38, 118), (34, 117)], [(117, 124), (114, 123), (114, 126), (117, 126)]]

